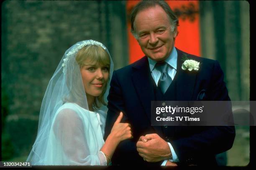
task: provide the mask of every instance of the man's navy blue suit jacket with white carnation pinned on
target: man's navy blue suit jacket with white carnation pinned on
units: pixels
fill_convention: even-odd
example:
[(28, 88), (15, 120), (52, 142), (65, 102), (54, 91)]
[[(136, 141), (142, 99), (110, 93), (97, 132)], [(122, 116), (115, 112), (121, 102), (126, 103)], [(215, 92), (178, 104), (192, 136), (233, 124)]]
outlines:
[[(202, 63), (197, 72), (182, 70), (182, 54), (177, 49), (177, 100), (230, 100), (223, 81), (223, 71), (218, 61), (194, 55), (189, 59)], [(104, 139), (108, 137), (119, 112), (124, 113), (122, 122), (129, 122), (133, 139), (122, 141), (112, 158), (113, 165), (160, 165), (147, 163), (138, 155), (136, 142), (141, 135), (157, 133), (171, 143), (180, 165), (216, 165), (215, 154), (230, 149), (235, 138), (233, 126), (168, 126), (162, 133), (161, 126), (151, 126), (151, 100), (154, 87), (146, 56), (131, 65), (113, 72), (108, 95), (108, 115)], [(203, 94), (202, 94), (203, 91)]]

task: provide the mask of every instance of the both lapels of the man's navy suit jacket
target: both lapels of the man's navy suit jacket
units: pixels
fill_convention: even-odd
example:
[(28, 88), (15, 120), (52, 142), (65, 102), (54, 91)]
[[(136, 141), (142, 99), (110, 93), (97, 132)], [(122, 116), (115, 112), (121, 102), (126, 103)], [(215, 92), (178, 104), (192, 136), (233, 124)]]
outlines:
[[(177, 72), (175, 75), (175, 77), (177, 77), (176, 97), (178, 101), (189, 101), (192, 100), (197, 72), (182, 70), (182, 53), (181, 50), (177, 49)], [(151, 72), (146, 56), (133, 66), (132, 80), (138, 97), (146, 112), (148, 121), (151, 122), (151, 101), (154, 101), (155, 98)], [(157, 133), (162, 134), (161, 126), (152, 127)]]

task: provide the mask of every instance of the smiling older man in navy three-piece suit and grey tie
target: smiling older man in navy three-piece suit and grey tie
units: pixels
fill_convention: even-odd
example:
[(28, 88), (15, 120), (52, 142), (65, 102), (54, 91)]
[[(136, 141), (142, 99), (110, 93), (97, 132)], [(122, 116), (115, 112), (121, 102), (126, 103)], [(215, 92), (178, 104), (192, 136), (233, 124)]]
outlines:
[[(177, 25), (164, 1), (133, 8), (131, 32), (146, 56), (113, 72), (105, 139), (120, 111), (134, 137), (118, 145), (113, 165), (216, 165), (215, 155), (233, 145), (233, 126), (151, 126), (151, 101), (230, 100), (217, 61), (174, 47)], [(200, 62), (199, 70), (182, 70), (182, 56)]]

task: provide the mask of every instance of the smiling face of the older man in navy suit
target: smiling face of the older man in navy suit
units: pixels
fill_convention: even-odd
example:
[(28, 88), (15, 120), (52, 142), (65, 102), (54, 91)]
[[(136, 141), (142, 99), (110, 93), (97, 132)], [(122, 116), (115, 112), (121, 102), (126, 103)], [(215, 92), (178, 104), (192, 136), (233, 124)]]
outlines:
[(172, 32), (169, 17), (162, 7), (157, 5), (139, 12), (134, 26), (138, 35), (137, 41), (147, 57), (156, 61), (169, 57), (177, 30)]

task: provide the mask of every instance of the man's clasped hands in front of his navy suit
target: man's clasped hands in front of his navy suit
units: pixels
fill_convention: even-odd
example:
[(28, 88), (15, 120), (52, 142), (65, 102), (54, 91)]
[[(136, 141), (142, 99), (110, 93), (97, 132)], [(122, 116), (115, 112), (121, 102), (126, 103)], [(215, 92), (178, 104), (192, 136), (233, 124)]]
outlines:
[(155, 133), (141, 136), (136, 146), (139, 155), (147, 162), (159, 162), (172, 158), (168, 143)]

